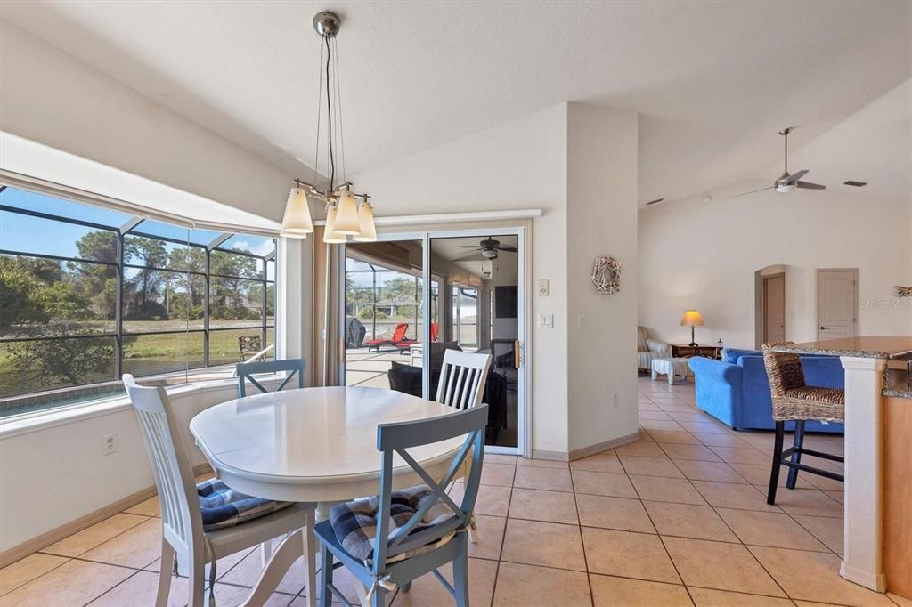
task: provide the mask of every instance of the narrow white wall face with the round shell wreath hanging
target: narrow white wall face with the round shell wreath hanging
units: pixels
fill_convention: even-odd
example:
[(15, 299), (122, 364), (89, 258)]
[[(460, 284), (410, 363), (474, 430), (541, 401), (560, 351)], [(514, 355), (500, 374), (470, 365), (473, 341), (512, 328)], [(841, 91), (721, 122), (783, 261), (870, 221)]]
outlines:
[[(570, 450), (637, 433), (637, 112), (571, 103), (567, 119)], [(620, 293), (591, 281), (621, 264)], [(617, 402), (614, 397), (617, 396)]]

